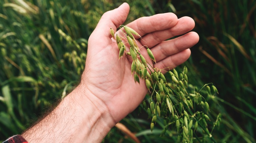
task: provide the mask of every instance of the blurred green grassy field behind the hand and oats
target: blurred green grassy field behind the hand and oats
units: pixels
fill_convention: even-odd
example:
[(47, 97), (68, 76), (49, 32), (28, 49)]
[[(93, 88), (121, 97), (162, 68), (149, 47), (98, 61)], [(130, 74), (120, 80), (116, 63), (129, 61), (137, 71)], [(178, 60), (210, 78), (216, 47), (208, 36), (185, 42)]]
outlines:
[[(164, 12), (195, 20), (200, 41), (177, 70), (186, 65), (190, 84), (218, 88), (218, 103), (210, 104), (213, 119), (222, 114), (212, 133), (216, 142), (256, 142), (254, 0), (1, 0), (0, 140), (20, 134), (77, 85), (91, 32), (104, 12), (123, 2), (131, 7), (125, 24)], [(176, 141), (172, 132), (161, 135), (160, 125), (151, 133), (139, 110), (121, 123), (141, 142)], [(103, 142), (133, 141), (114, 127)]]

